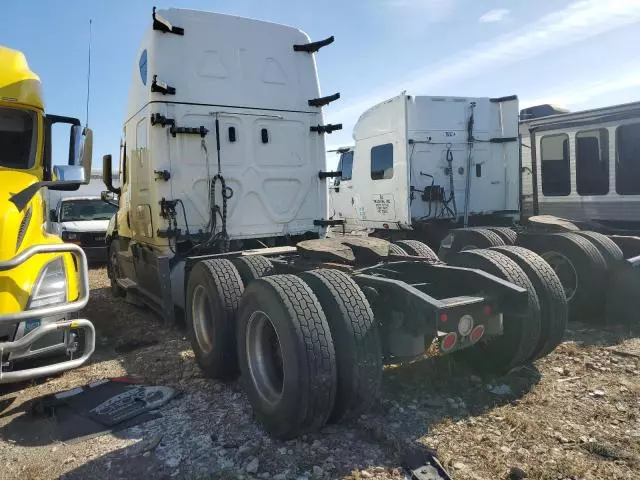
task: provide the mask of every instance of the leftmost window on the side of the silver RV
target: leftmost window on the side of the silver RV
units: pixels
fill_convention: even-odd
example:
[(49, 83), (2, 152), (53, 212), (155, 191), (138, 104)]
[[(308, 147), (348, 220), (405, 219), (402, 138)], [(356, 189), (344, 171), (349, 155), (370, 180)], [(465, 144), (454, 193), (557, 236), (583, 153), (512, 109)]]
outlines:
[(542, 159), (542, 193), (562, 196), (571, 193), (569, 170), (569, 136), (547, 135), (540, 139)]

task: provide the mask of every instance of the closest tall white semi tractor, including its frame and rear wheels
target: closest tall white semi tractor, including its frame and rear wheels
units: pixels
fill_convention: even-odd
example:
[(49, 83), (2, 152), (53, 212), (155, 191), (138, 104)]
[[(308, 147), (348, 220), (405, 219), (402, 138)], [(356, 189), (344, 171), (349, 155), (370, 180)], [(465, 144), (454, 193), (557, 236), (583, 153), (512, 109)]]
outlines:
[[(545, 320), (556, 334), (542, 331), (525, 274), (497, 252), (484, 260), (494, 275), (481, 262), (445, 265), (426, 245), (407, 256), (386, 240), (327, 238), (340, 221), (328, 218), (324, 138), (341, 125), (324, 123), (322, 107), (340, 95), (320, 92), (316, 56), (332, 42), (154, 9), (131, 78), (120, 187), (103, 159), (119, 197), (107, 232), (113, 293), (167, 322), (183, 314), (203, 373), (240, 374), (278, 438), (357, 417), (379, 395), (384, 362), (432, 343), (478, 368), (530, 362), (557, 345), (566, 313), (561, 298)], [(479, 108), (483, 122), (489, 110)]]

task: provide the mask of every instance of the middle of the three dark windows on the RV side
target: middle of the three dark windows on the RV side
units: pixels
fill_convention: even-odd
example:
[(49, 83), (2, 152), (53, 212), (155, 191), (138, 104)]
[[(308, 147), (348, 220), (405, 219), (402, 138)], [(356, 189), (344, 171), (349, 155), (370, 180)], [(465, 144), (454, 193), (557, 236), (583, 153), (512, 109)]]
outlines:
[(609, 193), (609, 132), (606, 128), (576, 133), (576, 189), (579, 195)]

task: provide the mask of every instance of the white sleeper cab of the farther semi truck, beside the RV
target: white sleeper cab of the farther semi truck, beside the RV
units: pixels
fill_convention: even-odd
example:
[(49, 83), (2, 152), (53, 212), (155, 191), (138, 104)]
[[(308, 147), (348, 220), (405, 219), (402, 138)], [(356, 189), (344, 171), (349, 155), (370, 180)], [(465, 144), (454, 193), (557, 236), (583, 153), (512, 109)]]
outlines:
[(346, 230), (416, 230), (437, 245), (452, 224), (518, 219), (515, 96), (402, 94), (364, 112), (353, 138), (330, 186), (330, 215)]

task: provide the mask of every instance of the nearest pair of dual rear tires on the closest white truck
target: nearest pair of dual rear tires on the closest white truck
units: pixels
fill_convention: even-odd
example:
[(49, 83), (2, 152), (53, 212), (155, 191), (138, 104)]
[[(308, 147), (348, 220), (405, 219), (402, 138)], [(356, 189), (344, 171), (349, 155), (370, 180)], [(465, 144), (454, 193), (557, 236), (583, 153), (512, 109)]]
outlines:
[(242, 384), (277, 438), (354, 418), (377, 398), (380, 339), (367, 299), (336, 270), (253, 281), (237, 324)]

